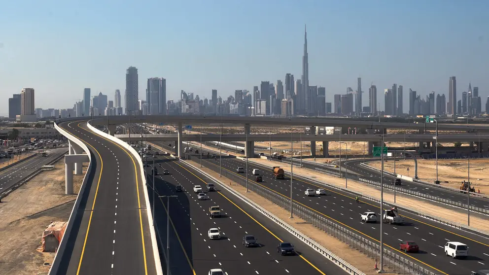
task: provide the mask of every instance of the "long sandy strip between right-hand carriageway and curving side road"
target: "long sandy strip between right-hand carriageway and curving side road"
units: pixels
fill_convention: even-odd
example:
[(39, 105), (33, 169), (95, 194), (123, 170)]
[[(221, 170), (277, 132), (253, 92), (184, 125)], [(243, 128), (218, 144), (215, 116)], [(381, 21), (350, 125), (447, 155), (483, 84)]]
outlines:
[[(199, 145), (200, 146), (200, 145)], [(215, 151), (215, 148), (202, 145), (202, 148), (206, 148), (208, 150)], [(237, 157), (244, 157), (243, 154), (235, 154), (234, 152), (224, 151), (230, 155), (235, 155)], [(277, 161), (269, 161), (266, 159), (258, 159), (258, 158), (248, 158), (249, 162), (258, 163), (267, 167), (280, 166), (285, 172), (290, 172), (290, 165)], [(336, 176), (328, 175), (322, 172), (315, 172), (313, 170), (295, 167), (293, 172), (296, 174), (301, 174), (304, 177), (308, 177), (311, 179), (316, 179), (320, 181), (327, 182), (331, 185), (345, 188), (345, 178), (339, 178)], [(358, 192), (364, 194), (366, 196), (374, 197), (380, 200), (381, 191), (374, 186), (367, 185), (366, 183), (360, 183), (358, 181), (353, 181), (351, 179), (348, 180), (348, 189), (354, 192)], [(390, 190), (384, 190), (384, 202), (393, 203), (394, 202), (394, 192)], [(437, 216), (440, 218), (445, 218), (447, 220), (460, 223), (467, 224), (467, 211), (461, 208), (456, 208), (452, 206), (445, 206), (443, 204), (438, 204), (434, 202), (430, 202), (421, 198), (416, 198), (410, 195), (396, 193), (396, 204), (403, 207), (409, 207), (412, 209), (419, 210), (421, 212)], [(463, 217), (463, 218), (462, 218)], [(422, 221), (422, 219), (420, 218)], [(482, 231), (487, 231), (487, 219), (480, 218), (477, 214), (470, 215), (470, 226)]]

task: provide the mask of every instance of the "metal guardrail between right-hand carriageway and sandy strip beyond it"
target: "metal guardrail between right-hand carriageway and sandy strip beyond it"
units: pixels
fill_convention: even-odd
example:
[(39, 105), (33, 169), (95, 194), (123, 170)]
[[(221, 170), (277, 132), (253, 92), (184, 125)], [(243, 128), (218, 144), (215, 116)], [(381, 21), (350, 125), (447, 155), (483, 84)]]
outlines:
[[(260, 167), (263, 167), (264, 169), (270, 169), (270, 167), (264, 166), (264, 165), (262, 165), (260, 163), (253, 162), (253, 164), (255, 164), (257, 166), (260, 166)], [(290, 172), (285, 172), (285, 174), (288, 174), (290, 176)], [(355, 191), (352, 191), (352, 190), (349, 190), (349, 189), (344, 189), (344, 188), (341, 188), (341, 187), (338, 187), (338, 186), (335, 186), (335, 185), (332, 185), (332, 184), (329, 184), (329, 183), (326, 183), (326, 182), (323, 182), (323, 181), (319, 181), (319, 180), (316, 180), (316, 179), (311, 179), (311, 178), (308, 178), (308, 177), (305, 177), (305, 176), (301, 176), (301, 175), (297, 175), (297, 174), (294, 174), (294, 177), (301, 178), (301, 179), (304, 179), (304, 180), (308, 180), (308, 181), (314, 182), (316, 184), (324, 185), (324, 186), (327, 186), (327, 187), (332, 188), (332, 189), (342, 190), (344, 192), (348, 192), (348, 193), (353, 194), (355, 196), (361, 196), (361, 197), (366, 198), (368, 200), (371, 200), (373, 202), (380, 203), (380, 200), (377, 199), (377, 198), (374, 198), (374, 197), (371, 197), (371, 196), (367, 196), (367, 195), (364, 195), (362, 193), (355, 192)], [(384, 185), (384, 187), (385, 187), (385, 185)], [(392, 190), (393, 190), (393, 188), (392, 188)], [(398, 191), (398, 188), (396, 188), (396, 192), (397, 191)], [(420, 217), (423, 217), (423, 218), (426, 218), (426, 219), (429, 219), (429, 220), (432, 220), (432, 221), (436, 221), (436, 222), (439, 222), (439, 223), (442, 223), (442, 224), (451, 226), (453, 228), (456, 228), (456, 229), (459, 229), (459, 230), (462, 230), (462, 231), (465, 231), (465, 232), (468, 232), (468, 233), (472, 233), (474, 235), (477, 235), (477, 236), (480, 236), (480, 237), (489, 239), (489, 233), (488, 232), (481, 231), (481, 230), (475, 229), (473, 227), (466, 226), (464, 224), (456, 223), (456, 222), (453, 222), (453, 221), (450, 221), (450, 220), (447, 220), (447, 219), (444, 219), (444, 218), (441, 218), (441, 217), (437, 217), (437, 216), (434, 216), (434, 215), (431, 215), (431, 214), (428, 214), (428, 213), (424, 213), (424, 212), (421, 212), (421, 211), (418, 211), (418, 210), (415, 210), (415, 209), (412, 209), (412, 208), (409, 208), (409, 207), (399, 206), (397, 204), (390, 203), (390, 202), (385, 202), (384, 201), (384, 205), (386, 205), (386, 206), (396, 206), (398, 209), (404, 210), (404, 211), (409, 212), (411, 214), (415, 214), (415, 215), (418, 215)]]

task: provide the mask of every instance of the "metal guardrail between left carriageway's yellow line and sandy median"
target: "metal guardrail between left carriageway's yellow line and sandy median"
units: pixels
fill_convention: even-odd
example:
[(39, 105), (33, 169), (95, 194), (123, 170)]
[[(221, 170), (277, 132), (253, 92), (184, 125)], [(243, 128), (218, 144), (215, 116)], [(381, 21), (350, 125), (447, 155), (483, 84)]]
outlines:
[[(192, 156), (190, 157), (192, 158)], [(311, 246), (314, 250), (316, 250), (317, 252), (319, 252), (323, 257), (329, 259), (330, 261), (332, 261), (334, 264), (338, 265), (339, 267), (343, 268), (345, 271), (349, 272), (350, 274), (352, 275), (365, 275), (363, 272), (359, 271), (357, 268), (353, 267), (352, 265), (350, 265), (348, 262), (346, 262), (345, 260), (341, 259), (340, 257), (338, 257), (337, 255), (335, 255), (334, 253), (332, 253), (331, 251), (329, 251), (328, 249), (324, 248), (322, 245), (320, 245), (319, 243), (317, 243), (316, 241), (312, 240), (310, 237), (302, 234), (301, 232), (299, 232), (297, 229), (295, 229), (294, 227), (290, 226), (289, 224), (285, 223), (283, 220), (279, 219), (279, 217), (275, 216), (274, 214), (270, 213), (269, 211), (267, 211), (265, 208), (257, 205), (256, 203), (254, 203), (253, 201), (249, 200), (248, 198), (244, 197), (243, 195), (241, 195), (240, 193), (236, 192), (235, 190), (233, 190), (232, 188), (229, 188), (226, 186), (226, 184), (224, 184), (223, 182), (220, 182), (218, 181), (217, 179), (215, 179), (213, 176), (209, 175), (208, 173), (198, 169), (197, 167), (193, 166), (192, 164), (189, 164), (187, 162), (185, 162), (184, 160), (181, 160), (181, 162), (185, 163), (185, 165), (189, 166), (189, 167), (192, 167), (193, 169), (195, 169), (196, 171), (199, 171), (201, 172), (202, 174), (206, 175), (208, 178), (210, 178), (212, 181), (216, 182), (217, 184), (219, 184), (220, 186), (224, 187), (227, 191), (229, 191), (230, 193), (232, 193), (233, 195), (235, 195), (236, 197), (238, 197), (239, 199), (243, 200), (246, 204), (248, 204), (249, 206), (257, 209), (259, 212), (261, 212), (262, 214), (264, 214), (265, 216), (267, 216), (268, 218), (270, 218), (271, 220), (273, 220), (275, 223), (279, 224), (280, 227), (284, 228), (285, 230), (287, 230), (289, 233), (291, 233), (292, 235), (294, 235), (296, 238), (298, 238), (299, 240), (305, 242), (307, 245)], [(202, 164), (203, 166), (206, 166), (205, 163)], [(209, 165), (209, 164), (207, 164)], [(207, 167), (207, 166), (206, 166)], [(226, 173), (226, 177), (230, 178), (229, 175), (233, 175), (232, 173), (229, 173), (228, 171), (223, 171)], [(234, 174), (236, 175), (236, 174)], [(234, 180), (234, 179), (233, 179)], [(239, 182), (240, 184), (243, 185), (242, 182)], [(257, 186), (255, 184), (253, 184), (253, 187), (260, 187), (261, 186)], [(255, 191), (253, 188), (250, 188), (250, 190), (252, 191)], [(256, 191), (255, 191), (256, 192)], [(258, 192), (257, 192), (258, 193)], [(262, 194), (260, 194), (262, 197), (265, 197), (267, 198), (266, 196), (263, 196)], [(275, 194), (274, 194), (275, 195)], [(272, 196), (274, 197), (274, 196)], [(275, 198), (275, 197), (274, 197)], [(278, 196), (277, 196), (278, 198)], [(272, 200), (271, 200), (272, 201)], [(277, 204), (278, 201), (275, 201), (274, 203)], [(287, 201), (288, 202), (288, 201)], [(286, 203), (287, 203), (286, 202)], [(282, 206), (283, 207), (283, 206)], [(305, 213), (304, 213), (305, 214)]]

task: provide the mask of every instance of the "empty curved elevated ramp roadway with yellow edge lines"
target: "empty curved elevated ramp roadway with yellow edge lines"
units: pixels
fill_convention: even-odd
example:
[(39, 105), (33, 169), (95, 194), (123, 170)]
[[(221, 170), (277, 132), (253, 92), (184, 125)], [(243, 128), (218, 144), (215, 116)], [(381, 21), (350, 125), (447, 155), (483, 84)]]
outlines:
[(96, 171), (81, 194), (77, 230), (58, 274), (156, 274), (137, 160), (88, 130), (87, 120), (60, 127), (87, 144)]

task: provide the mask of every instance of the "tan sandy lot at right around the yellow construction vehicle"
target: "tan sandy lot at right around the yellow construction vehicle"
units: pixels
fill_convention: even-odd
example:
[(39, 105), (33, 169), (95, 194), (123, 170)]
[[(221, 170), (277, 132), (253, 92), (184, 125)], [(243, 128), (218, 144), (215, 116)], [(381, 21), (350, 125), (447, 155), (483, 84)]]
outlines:
[[(381, 162), (370, 162), (370, 166), (381, 169)], [(409, 175), (407, 169), (409, 168)], [(384, 162), (384, 170), (394, 172), (394, 162)], [(413, 160), (396, 161), (396, 172), (414, 176), (415, 166)], [(438, 180), (440, 185), (460, 188), (460, 182), (468, 180), (467, 177), (467, 159), (460, 160), (438, 160)], [(470, 159), (470, 182), (476, 191), (489, 193), (489, 160), (488, 159)], [(418, 159), (418, 176), (419, 179), (433, 183), (436, 180), (436, 162), (435, 160)]]

